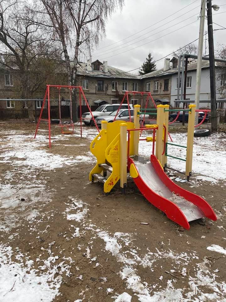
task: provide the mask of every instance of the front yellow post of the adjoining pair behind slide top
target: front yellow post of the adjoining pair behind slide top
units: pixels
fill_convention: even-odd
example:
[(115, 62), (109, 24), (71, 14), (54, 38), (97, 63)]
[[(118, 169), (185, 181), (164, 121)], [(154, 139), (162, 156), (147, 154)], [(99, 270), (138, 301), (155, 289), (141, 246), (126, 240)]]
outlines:
[(157, 106), (157, 125), (158, 130), (156, 131), (156, 148), (155, 155), (159, 160), (160, 164), (162, 163), (162, 152), (163, 152), (163, 122), (164, 122), (164, 105)]

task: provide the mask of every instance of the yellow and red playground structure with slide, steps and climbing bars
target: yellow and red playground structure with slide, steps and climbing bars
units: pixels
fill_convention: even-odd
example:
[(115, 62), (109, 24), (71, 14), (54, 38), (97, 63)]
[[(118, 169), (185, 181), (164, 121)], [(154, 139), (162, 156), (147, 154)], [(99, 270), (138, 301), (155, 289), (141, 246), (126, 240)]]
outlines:
[[(127, 99), (128, 100), (128, 99)], [(164, 172), (167, 167), (168, 145), (186, 148), (186, 176), (189, 180), (192, 171), (192, 151), (195, 124), (195, 105), (190, 105), (187, 146), (168, 143), (169, 105), (157, 106), (156, 125), (140, 127), (139, 115), (144, 111), (154, 113), (156, 109), (140, 109), (134, 106), (134, 122), (101, 122), (101, 131), (90, 144), (90, 151), (97, 159), (89, 174), (89, 180), (98, 180), (104, 184), (104, 192), (109, 193), (120, 180), (120, 187), (127, 187), (127, 172), (133, 178), (143, 196), (154, 206), (163, 211), (169, 219), (185, 229), (189, 222), (208, 217), (217, 220), (211, 206), (200, 196), (176, 185)], [(181, 110), (180, 110), (181, 111)], [(201, 123), (200, 123), (201, 124)], [(140, 131), (153, 131), (153, 137), (140, 138)], [(150, 160), (139, 156), (139, 140), (153, 142)], [(110, 175), (108, 175), (110, 173)]]

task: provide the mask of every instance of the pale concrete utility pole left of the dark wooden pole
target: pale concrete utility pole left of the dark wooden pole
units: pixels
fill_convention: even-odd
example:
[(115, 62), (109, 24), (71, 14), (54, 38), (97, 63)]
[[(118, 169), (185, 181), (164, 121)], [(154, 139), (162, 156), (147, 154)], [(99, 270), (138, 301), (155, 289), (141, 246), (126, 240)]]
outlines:
[[(201, 0), (201, 14), (200, 14), (200, 25), (199, 25), (199, 45), (198, 45), (197, 71), (196, 71), (196, 94), (195, 94), (196, 109), (199, 109), (199, 99), (200, 99), (205, 12), (206, 12), (206, 0)], [(195, 123), (198, 124), (198, 112), (196, 112)]]

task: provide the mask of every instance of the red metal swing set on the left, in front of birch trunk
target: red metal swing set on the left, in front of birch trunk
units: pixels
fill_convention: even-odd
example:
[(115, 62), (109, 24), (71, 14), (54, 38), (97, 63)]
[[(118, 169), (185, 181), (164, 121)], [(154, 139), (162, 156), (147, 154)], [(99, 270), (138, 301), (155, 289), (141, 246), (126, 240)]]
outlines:
[[(59, 126), (61, 127), (61, 133), (62, 134), (73, 134), (73, 132), (74, 132), (74, 123), (73, 123), (73, 119), (72, 119), (72, 90), (73, 89), (78, 89), (78, 92), (79, 92), (80, 133), (81, 133), (81, 137), (82, 137), (82, 100), (81, 100), (81, 96), (83, 96), (83, 98), (85, 100), (86, 106), (88, 107), (89, 112), (90, 112), (90, 114), (92, 116), (92, 120), (94, 121), (94, 125), (96, 126), (98, 132), (100, 132), (100, 130), (99, 130), (97, 124), (96, 124), (96, 121), (94, 119), (94, 116), (92, 114), (92, 111), (91, 111), (91, 109), (89, 107), (89, 103), (88, 103), (88, 101), (87, 101), (87, 99), (85, 97), (85, 94), (84, 94), (83, 89), (82, 89), (81, 86), (46, 85), (46, 93), (45, 93), (45, 96), (44, 96), (44, 99), (43, 99), (43, 103), (42, 103), (42, 107), (41, 107), (41, 111), (40, 111), (40, 116), (39, 116), (38, 123), (37, 123), (37, 126), (36, 126), (35, 137), (37, 135), (38, 128), (40, 126), (40, 122), (41, 121), (47, 121), (48, 122), (48, 126), (49, 126), (49, 148), (51, 148), (50, 87), (55, 87), (55, 88), (58, 89), (58, 95), (59, 95), (59, 118), (60, 118)], [(60, 89), (61, 88), (68, 88), (70, 90), (70, 124), (69, 125), (62, 123), (62, 120), (61, 120), (61, 96), (60, 96)], [(43, 113), (43, 109), (45, 107), (46, 98), (47, 98), (47, 107), (48, 107), (48, 119), (43, 119), (42, 118), (42, 113)], [(67, 127), (67, 131), (63, 131), (63, 127)], [(69, 127), (72, 127), (71, 131), (69, 131)]]

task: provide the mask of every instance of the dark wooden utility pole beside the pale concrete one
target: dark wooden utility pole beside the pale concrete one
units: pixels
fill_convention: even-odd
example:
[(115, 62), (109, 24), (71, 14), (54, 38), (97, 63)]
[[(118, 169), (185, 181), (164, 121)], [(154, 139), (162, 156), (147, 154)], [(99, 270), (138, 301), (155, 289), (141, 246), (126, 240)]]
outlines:
[(214, 60), (211, 0), (207, 0), (207, 22), (208, 22), (209, 62), (210, 62), (211, 131), (216, 132), (217, 131), (216, 79), (215, 79), (215, 60)]

